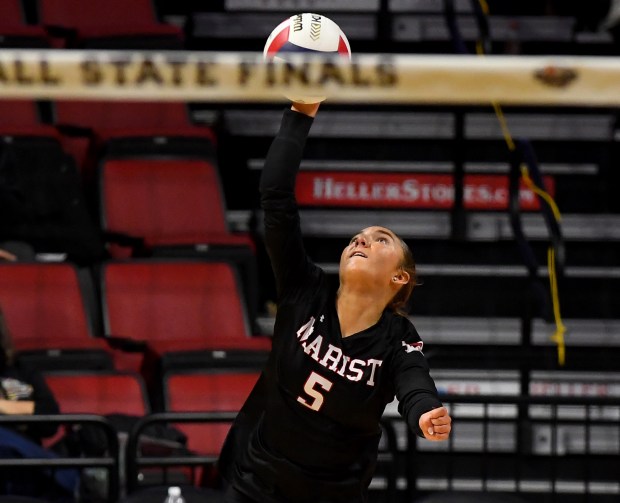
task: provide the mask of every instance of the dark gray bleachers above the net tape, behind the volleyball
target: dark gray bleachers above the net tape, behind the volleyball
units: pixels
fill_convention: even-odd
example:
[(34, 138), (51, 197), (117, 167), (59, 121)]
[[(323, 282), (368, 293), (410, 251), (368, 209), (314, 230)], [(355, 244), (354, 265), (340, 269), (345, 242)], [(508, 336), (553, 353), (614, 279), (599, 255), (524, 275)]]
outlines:
[[(479, 33), (472, 2), (453, 3), (463, 38), (475, 41)], [(362, 45), (357, 47), (363, 47), (364, 52), (392, 52), (399, 45), (420, 52), (445, 52), (450, 50), (450, 34), (444, 5), (440, 0), (223, 0), (182, 13), (184, 21), (178, 21), (178, 15), (171, 17), (177, 23), (189, 21), (190, 41), (198, 46), (208, 47), (218, 40), (229, 44), (235, 40), (263, 40), (265, 33), (287, 16), (306, 11), (329, 14), (347, 33), (354, 52), (360, 42)], [(579, 29), (577, 9), (568, 9), (568, 14), (542, 16), (533, 15), (527, 7), (508, 13), (502, 9), (494, 14), (494, 7), (491, 4), (489, 30), (497, 47), (519, 50), (525, 45), (534, 52), (553, 47), (554, 51), (567, 54), (614, 50), (614, 40), (608, 32)], [(544, 12), (542, 8), (534, 10), (537, 14)]]

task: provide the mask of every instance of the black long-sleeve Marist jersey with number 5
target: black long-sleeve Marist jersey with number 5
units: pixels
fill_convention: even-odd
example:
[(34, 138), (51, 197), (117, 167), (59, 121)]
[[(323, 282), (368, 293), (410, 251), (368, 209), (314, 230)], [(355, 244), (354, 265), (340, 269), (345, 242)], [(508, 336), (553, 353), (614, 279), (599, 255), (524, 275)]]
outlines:
[(261, 177), (265, 242), (278, 311), (266, 367), (220, 456), (224, 477), (269, 503), (367, 500), (379, 421), (396, 396), (414, 431), (441, 406), (405, 317), (385, 311), (374, 325), (342, 337), (337, 285), (304, 250), (294, 197), (312, 118), (287, 110)]

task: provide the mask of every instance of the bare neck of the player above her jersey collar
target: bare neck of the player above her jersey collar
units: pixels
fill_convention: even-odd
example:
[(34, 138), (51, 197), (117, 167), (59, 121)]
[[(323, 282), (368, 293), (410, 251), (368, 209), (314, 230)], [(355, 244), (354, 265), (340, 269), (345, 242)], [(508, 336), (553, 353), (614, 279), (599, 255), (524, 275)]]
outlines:
[(341, 288), (336, 298), (336, 311), (342, 337), (349, 337), (375, 325), (385, 308), (376, 295)]

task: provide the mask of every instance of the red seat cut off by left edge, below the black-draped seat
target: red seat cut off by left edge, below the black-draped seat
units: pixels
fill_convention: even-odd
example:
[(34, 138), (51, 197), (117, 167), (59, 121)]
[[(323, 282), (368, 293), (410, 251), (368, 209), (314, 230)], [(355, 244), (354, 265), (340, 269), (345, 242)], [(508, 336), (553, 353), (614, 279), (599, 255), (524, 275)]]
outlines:
[(66, 262), (0, 264), (0, 307), (19, 359), (40, 369), (112, 367), (94, 335), (92, 283), (80, 274)]

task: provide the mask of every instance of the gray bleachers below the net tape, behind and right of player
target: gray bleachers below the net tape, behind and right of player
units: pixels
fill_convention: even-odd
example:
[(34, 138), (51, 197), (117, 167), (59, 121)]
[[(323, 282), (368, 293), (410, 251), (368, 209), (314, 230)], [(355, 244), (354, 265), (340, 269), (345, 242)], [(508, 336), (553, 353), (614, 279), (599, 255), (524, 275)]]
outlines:
[[(262, 156), (275, 134), (281, 109), (276, 106), (223, 112), (223, 123), (235, 142), (247, 142), (249, 148), (239, 168), (250, 179), (257, 180), (260, 175)], [(411, 318), (425, 340), (426, 355), (438, 387), (443, 393), (477, 397), (480, 403), (451, 402), (458, 426), (450, 446), (424, 442), (413, 446), (414, 440), (405, 425), (395, 419), (401, 451), (415, 450), (424, 466), (438, 464), (435, 470), (423, 470), (414, 477), (417, 492), (486, 487), (538, 498), (532, 501), (545, 501), (556, 492), (572, 495), (575, 499), (571, 501), (580, 501), (584, 494), (589, 495), (587, 501), (613, 500), (620, 494), (620, 487), (609, 479), (608, 473), (601, 480), (588, 481), (574, 466), (565, 467), (562, 463), (567, 455), (594, 460), (613, 458), (620, 452), (619, 379), (613, 372), (617, 369), (620, 347), (620, 308), (615, 293), (620, 291), (620, 215), (618, 206), (613, 204), (617, 175), (614, 178), (610, 164), (611, 152), (617, 149), (615, 111), (508, 110), (506, 117), (515, 137), (525, 136), (535, 143), (542, 155), (541, 172), (556, 181), (567, 247), (564, 287), (560, 289), (563, 323), (567, 327), (566, 369), (557, 364), (557, 349), (551, 340), (555, 324), (536, 316), (529, 321), (522, 318), (527, 312), (523, 304), (532, 292), (527, 285), (527, 269), (518, 255), (506, 257), (498, 248), (494, 259), (472, 263), (466, 261), (468, 256), (459, 261), (459, 250), (463, 248), (478, 244), (479, 249), (492, 250), (502, 243), (504, 247), (514, 244), (507, 212), (467, 212), (466, 242), (460, 243), (453, 253), (446, 251), (455, 246), (450, 211), (303, 207), (302, 229), (307, 245), (323, 259), (319, 263), (330, 274), (337, 274), (337, 250), (369, 222), (395, 230), (412, 244), (418, 257), (419, 275), (425, 285), (414, 291)], [(471, 157), (463, 162), (464, 171), (505, 175), (508, 160), (501, 155), (493, 157), (505, 148), (496, 117), (490, 111), (469, 110), (464, 113), (463, 124), (471, 147)], [(394, 111), (332, 107), (319, 115), (314, 126), (308, 143), (310, 156), (302, 163), (302, 171), (445, 174), (453, 172), (456, 165), (449, 155), (457, 136), (455, 115), (445, 108)], [(416, 155), (419, 145), (440, 142), (446, 145), (447, 155)], [(366, 145), (364, 153), (369, 153), (380, 143), (393, 145), (394, 156), (354, 157), (349, 146)], [(343, 144), (349, 148), (341, 153), (339, 148)], [(396, 151), (407, 148), (410, 158)], [(476, 155), (487, 148), (491, 154)], [(383, 152), (389, 150), (385, 147)], [(247, 228), (247, 219), (253, 216), (260, 233), (262, 217), (257, 208), (238, 208), (230, 216), (240, 228)], [(526, 213), (522, 215), (522, 224), (528, 239), (545, 248), (549, 234), (543, 217), (537, 212)], [(423, 253), (430, 243), (435, 246), (431, 250), (440, 249), (440, 243), (444, 243), (444, 250), (434, 255), (426, 252), (424, 259), (420, 258), (418, 252)], [(545, 264), (541, 258), (541, 282), (547, 281)], [(476, 295), (479, 302), (472, 301)], [(270, 332), (272, 321), (269, 316), (261, 318), (263, 331)], [(464, 359), (468, 362), (464, 363)], [(604, 397), (612, 405), (588, 407), (588, 393)], [(507, 400), (531, 396), (549, 400), (549, 404), (528, 405), (524, 427), (520, 426), (524, 421), (520, 415), (522, 404), (510, 400), (489, 404), (491, 396)], [(569, 396), (579, 403), (553, 404), (554, 400)], [(386, 416), (397, 418), (394, 405), (388, 408)], [(527, 440), (522, 437), (524, 434)], [(491, 476), (471, 474), (454, 461), (457, 466), (450, 468), (454, 473), (447, 476), (444, 468), (450, 466), (450, 461), (442, 457), (446, 451), (457, 460), (476, 454), (481, 460), (497, 460), (486, 462), (491, 466), (494, 462), (502, 465), (505, 457), (518, 460), (534, 456), (535, 462), (557, 462), (558, 468), (554, 470), (559, 475), (542, 468), (538, 470), (540, 475), (528, 469), (515, 475), (511, 471), (514, 468)], [(485, 466), (484, 461), (480, 463)], [(571, 480), (562, 477), (564, 470), (571, 473)], [(401, 471), (397, 482), (400, 492), (408, 494), (410, 484), (411, 477)], [(385, 490), (385, 476), (379, 473), (371, 487), (379, 493)]]

